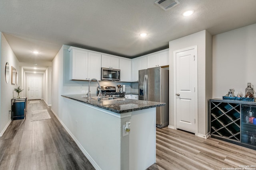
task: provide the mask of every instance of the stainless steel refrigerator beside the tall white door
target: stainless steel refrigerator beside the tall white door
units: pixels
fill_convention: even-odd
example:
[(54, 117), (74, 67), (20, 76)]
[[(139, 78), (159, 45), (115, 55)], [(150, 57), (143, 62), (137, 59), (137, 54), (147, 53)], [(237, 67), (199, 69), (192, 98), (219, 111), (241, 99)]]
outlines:
[(139, 70), (139, 100), (166, 103), (156, 107), (156, 126), (169, 124), (169, 70), (155, 67)]

